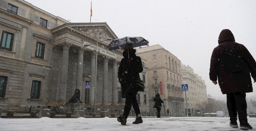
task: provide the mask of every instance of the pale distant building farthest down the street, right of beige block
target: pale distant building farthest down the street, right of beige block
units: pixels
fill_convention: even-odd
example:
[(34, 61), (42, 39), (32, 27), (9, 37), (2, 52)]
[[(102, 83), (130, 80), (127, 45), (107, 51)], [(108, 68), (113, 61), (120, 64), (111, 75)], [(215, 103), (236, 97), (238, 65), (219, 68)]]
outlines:
[[(192, 67), (183, 64), (182, 79), (183, 83), (189, 86), (189, 90), (186, 92), (187, 105), (185, 103), (185, 108), (188, 109), (188, 115), (200, 116), (200, 105), (208, 102), (205, 81), (198, 74), (194, 74)], [(183, 95), (185, 98), (185, 93)]]

